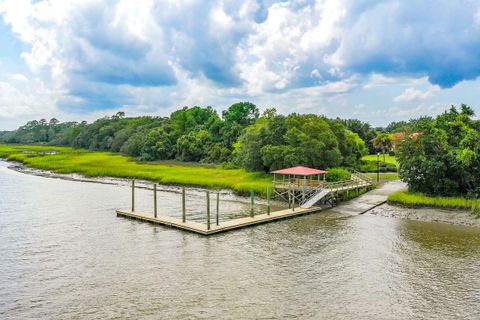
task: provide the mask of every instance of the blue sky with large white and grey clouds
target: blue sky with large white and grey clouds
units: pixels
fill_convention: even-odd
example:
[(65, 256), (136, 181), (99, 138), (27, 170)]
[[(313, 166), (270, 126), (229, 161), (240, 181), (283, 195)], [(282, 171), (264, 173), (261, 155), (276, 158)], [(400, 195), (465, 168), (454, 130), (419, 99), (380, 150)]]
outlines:
[(0, 0), (0, 130), (238, 101), (373, 126), (480, 114), (478, 0)]

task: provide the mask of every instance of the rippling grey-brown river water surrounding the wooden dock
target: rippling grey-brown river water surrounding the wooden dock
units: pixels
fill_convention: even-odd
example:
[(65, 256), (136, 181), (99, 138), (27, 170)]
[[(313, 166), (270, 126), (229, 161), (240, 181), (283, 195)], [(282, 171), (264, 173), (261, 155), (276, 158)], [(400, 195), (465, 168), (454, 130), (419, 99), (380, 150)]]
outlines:
[(6, 166), (1, 319), (480, 319), (480, 229), (323, 212), (205, 238), (117, 218), (126, 186)]

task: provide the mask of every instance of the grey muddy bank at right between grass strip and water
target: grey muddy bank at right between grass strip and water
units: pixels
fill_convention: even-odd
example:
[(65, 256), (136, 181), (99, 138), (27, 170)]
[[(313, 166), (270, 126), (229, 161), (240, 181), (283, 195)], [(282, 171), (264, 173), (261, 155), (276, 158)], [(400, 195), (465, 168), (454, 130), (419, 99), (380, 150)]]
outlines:
[(382, 204), (366, 214), (375, 216), (480, 227), (480, 219), (467, 210), (406, 208)]

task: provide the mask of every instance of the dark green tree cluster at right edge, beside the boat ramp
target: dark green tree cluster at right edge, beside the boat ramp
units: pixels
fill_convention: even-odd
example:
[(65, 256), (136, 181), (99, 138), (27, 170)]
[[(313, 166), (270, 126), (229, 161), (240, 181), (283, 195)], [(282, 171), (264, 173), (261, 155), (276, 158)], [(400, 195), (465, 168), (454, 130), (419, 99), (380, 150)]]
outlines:
[(480, 197), (480, 128), (473, 110), (452, 107), (398, 146), (400, 176), (428, 195)]

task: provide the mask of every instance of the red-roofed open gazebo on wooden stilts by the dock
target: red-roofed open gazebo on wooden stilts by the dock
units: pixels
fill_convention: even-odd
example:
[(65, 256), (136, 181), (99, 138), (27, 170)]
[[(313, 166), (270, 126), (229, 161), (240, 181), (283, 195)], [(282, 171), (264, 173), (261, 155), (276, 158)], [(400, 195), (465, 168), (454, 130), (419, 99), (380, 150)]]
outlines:
[(273, 190), (275, 195), (286, 201), (293, 198), (298, 202), (318, 190), (325, 182), (327, 171), (308, 167), (291, 167), (271, 172), (273, 174)]

